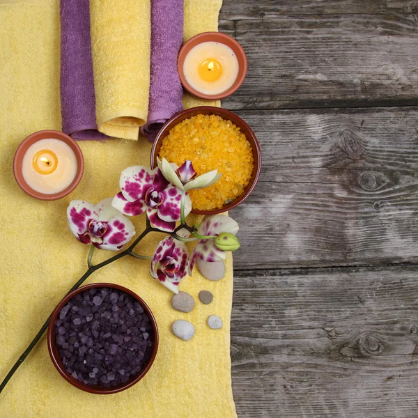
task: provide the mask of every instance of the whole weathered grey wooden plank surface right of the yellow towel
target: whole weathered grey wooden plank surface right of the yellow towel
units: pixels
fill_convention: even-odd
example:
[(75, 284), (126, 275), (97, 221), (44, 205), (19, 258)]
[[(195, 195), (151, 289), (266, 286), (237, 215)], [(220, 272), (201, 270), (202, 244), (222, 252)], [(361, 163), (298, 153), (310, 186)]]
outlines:
[(418, 417), (418, 0), (224, 0), (219, 29), (263, 153), (231, 211), (238, 416)]

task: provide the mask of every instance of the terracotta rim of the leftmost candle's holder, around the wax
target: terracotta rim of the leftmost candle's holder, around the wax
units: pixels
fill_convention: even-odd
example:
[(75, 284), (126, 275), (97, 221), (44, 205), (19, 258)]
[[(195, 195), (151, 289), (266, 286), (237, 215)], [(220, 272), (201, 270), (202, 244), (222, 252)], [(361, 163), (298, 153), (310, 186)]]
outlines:
[[(43, 194), (40, 192), (36, 192), (36, 190), (33, 190), (24, 180), (22, 174), (22, 161), (26, 151), (31, 145), (40, 141), (40, 139), (49, 138), (60, 139), (61, 141), (65, 142), (65, 144), (70, 146), (70, 148), (74, 151), (75, 156), (77, 157), (77, 173), (75, 175), (74, 180), (72, 180), (72, 183), (66, 189), (63, 189), (62, 192), (54, 194)], [(24, 192), (29, 194), (29, 196), (35, 197), (36, 199), (40, 200), (51, 201), (61, 199), (62, 197), (67, 196), (67, 194), (70, 194), (80, 183), (80, 180), (82, 180), (83, 177), (83, 172), (84, 157), (82, 150), (78, 146), (77, 142), (71, 137), (69, 137), (67, 134), (64, 134), (63, 132), (56, 130), (42, 130), (29, 135), (29, 137), (24, 139), (22, 141), (22, 144), (20, 144), (20, 146), (17, 148), (15, 153), (15, 160), (13, 161), (13, 173), (15, 174), (17, 184)]]

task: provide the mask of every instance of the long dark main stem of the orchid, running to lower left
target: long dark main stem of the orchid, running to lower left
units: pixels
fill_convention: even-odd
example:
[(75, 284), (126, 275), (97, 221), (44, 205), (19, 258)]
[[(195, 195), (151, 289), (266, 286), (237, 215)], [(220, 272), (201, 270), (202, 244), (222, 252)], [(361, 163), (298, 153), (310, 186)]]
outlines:
[[(139, 244), (139, 242), (150, 232), (156, 232), (159, 231), (158, 229), (153, 228), (150, 225), (150, 222), (148, 221), (147, 218), (147, 223), (146, 223), (146, 229), (144, 229), (144, 231), (141, 233), (141, 235), (139, 235), (139, 237), (134, 240), (134, 242), (132, 243), (132, 245), (130, 245), (130, 247), (128, 247), (127, 249), (121, 251), (120, 253), (116, 254), (116, 256), (113, 256), (111, 258), (108, 258), (105, 261), (102, 261), (102, 263), (93, 265), (91, 264), (91, 257), (93, 256), (93, 251), (94, 251), (94, 246), (92, 245), (92, 248), (90, 249), (89, 253), (88, 253), (88, 258), (87, 258), (87, 263), (88, 263), (88, 270), (82, 275), (82, 277), (75, 283), (74, 286), (72, 286), (72, 288), (70, 288), (70, 291), (68, 291), (68, 293), (71, 293), (72, 291), (75, 291), (75, 289), (77, 289), (79, 286), (81, 286), (84, 281), (86, 281), (86, 279), (88, 279), (88, 277), (95, 272), (96, 270), (99, 270), (100, 268), (104, 267), (105, 265), (108, 265), (110, 263), (113, 263), (114, 261), (118, 260), (119, 258), (122, 258), (124, 256), (137, 256), (138, 254), (133, 255), (134, 253), (132, 252), (133, 249)], [(161, 232), (161, 231), (159, 231)], [(67, 295), (68, 295), (67, 293)], [(1, 382), (0, 384), (0, 393), (3, 391), (4, 387), (6, 387), (8, 381), (10, 380), (10, 378), (12, 378), (12, 376), (15, 374), (15, 371), (17, 371), (17, 369), (19, 369), (19, 366), (24, 362), (24, 359), (26, 359), (26, 357), (28, 357), (29, 353), (31, 353), (33, 347), (36, 346), (36, 343), (38, 343), (38, 341), (40, 340), (40, 338), (42, 337), (43, 333), (47, 330), (48, 326), (49, 326), (49, 321), (51, 320), (52, 314), (49, 315), (48, 319), (45, 321), (44, 325), (42, 325), (42, 327), (40, 328), (38, 334), (36, 334), (35, 338), (32, 340), (32, 342), (29, 344), (29, 346), (26, 348), (26, 350), (24, 350), (23, 354), (19, 357), (19, 359), (17, 359), (17, 362), (15, 362), (15, 364), (13, 365), (13, 367), (10, 369), (10, 371), (7, 373), (6, 378), (3, 379), (3, 382)]]

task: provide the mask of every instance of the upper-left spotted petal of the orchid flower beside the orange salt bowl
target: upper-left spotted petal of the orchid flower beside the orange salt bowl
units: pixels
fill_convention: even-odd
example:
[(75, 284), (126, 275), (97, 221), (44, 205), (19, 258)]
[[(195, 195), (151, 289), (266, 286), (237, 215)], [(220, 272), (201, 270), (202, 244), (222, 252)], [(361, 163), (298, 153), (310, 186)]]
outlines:
[(122, 171), (119, 186), (123, 197), (134, 202), (144, 200), (146, 191), (153, 185), (153, 180), (154, 174), (146, 167), (132, 166)]

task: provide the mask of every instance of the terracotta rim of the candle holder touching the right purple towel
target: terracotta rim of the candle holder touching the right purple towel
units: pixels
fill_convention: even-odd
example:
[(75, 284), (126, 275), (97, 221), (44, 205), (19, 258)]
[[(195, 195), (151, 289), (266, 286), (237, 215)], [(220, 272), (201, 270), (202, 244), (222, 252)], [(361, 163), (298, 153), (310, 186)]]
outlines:
[[(238, 77), (235, 80), (235, 83), (228, 90), (224, 91), (224, 93), (219, 93), (215, 95), (207, 95), (201, 93), (200, 91), (197, 91), (192, 86), (190, 86), (190, 84), (187, 82), (185, 78), (185, 74), (183, 72), (183, 64), (185, 62), (186, 55), (189, 53), (190, 49), (192, 49), (196, 45), (199, 45), (202, 42), (223, 43), (226, 46), (230, 47), (237, 56), (239, 65)], [(178, 75), (180, 75), (181, 84), (183, 84), (183, 87), (189, 93), (192, 93), (193, 95), (201, 99), (220, 100), (228, 97), (229, 95), (237, 91), (242, 82), (244, 81), (245, 75), (247, 74), (247, 56), (245, 56), (245, 52), (244, 49), (242, 49), (242, 46), (234, 38), (231, 38), (231, 36), (219, 32), (203, 32), (199, 33), (199, 35), (196, 35), (193, 38), (190, 38), (185, 43), (185, 45), (181, 47), (180, 52), (178, 53), (177, 67)]]

